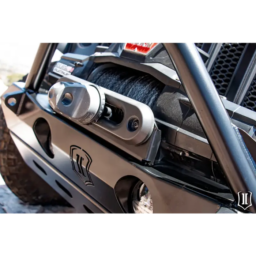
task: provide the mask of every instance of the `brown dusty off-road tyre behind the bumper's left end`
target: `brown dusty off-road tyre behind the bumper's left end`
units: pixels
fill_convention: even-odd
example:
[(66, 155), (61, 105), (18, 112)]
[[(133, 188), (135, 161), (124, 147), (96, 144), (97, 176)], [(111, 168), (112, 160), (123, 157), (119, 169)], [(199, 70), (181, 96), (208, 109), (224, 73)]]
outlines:
[(29, 204), (69, 206), (23, 161), (6, 126), (0, 105), (0, 174), (20, 200)]

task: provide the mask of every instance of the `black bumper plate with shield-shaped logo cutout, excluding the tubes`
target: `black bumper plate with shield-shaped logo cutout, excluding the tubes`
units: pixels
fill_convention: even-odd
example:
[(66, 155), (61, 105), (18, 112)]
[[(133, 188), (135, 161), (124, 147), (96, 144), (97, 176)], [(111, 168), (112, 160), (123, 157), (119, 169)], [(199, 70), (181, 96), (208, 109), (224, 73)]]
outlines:
[[(88, 213), (89, 208), (95, 214), (131, 214), (129, 193), (132, 188), (122, 186), (120, 189), (118, 184), (121, 181), (125, 184), (126, 180), (126, 184), (132, 184), (132, 179), (146, 184), (153, 199), (153, 214), (238, 213), (228, 206), (221, 207), (217, 201), (199, 192), (191, 191), (182, 182), (174, 182), (172, 177), (153, 167), (125, 159), (121, 152), (118, 154), (118, 151), (110, 150), (100, 138), (91, 136), (86, 129), (73, 127), (68, 121), (60, 119), (47, 105), (43, 106), (45, 101), (41, 99), (44, 95), (30, 94), (23, 86), (23, 83), (16, 83), (1, 97), (11, 136), (27, 165), (80, 213)], [(26, 101), (23, 98), (23, 111), (18, 115), (5, 104), (6, 95), (17, 92), (26, 98)], [(34, 133), (38, 118), (44, 118), (49, 124), (53, 158), (45, 153)], [(72, 146), (90, 155), (90, 185), (86, 185), (74, 171), (70, 155)], [(83, 168), (86, 169), (86, 166)]]

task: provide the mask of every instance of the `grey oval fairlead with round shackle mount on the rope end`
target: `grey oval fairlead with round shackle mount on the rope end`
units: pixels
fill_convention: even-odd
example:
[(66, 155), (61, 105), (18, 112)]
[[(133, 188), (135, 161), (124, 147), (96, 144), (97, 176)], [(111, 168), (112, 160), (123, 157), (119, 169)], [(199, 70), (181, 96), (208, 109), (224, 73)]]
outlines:
[[(152, 110), (144, 103), (125, 97), (72, 75), (58, 80), (48, 92), (52, 109), (103, 135), (140, 145), (151, 136), (155, 120)], [(108, 139), (109, 139), (108, 138)]]

